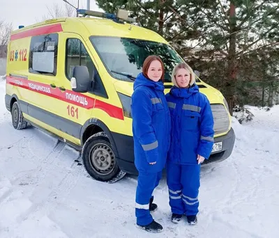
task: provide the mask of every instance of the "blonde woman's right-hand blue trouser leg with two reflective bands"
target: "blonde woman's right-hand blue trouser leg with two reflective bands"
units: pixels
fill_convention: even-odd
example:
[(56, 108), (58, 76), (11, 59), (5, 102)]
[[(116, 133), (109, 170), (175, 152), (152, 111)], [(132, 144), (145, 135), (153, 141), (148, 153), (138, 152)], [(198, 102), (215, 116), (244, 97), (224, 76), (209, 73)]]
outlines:
[(200, 165), (184, 165), (182, 167), (182, 200), (186, 216), (197, 215), (199, 212), (199, 172)]

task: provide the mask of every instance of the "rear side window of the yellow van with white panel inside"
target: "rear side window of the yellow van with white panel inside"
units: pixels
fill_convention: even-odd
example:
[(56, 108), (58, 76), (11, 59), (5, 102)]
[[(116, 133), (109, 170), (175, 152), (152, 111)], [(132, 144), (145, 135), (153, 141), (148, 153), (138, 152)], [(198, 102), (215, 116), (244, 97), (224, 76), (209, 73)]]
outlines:
[(29, 72), (56, 75), (58, 34), (36, 35), (31, 38)]

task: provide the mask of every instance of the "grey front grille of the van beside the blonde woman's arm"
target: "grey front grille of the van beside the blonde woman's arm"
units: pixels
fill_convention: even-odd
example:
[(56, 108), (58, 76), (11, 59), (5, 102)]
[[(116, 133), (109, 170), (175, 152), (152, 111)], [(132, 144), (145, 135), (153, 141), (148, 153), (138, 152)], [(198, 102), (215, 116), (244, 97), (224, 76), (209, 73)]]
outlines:
[(229, 115), (223, 104), (211, 104), (214, 119), (214, 133), (220, 134), (229, 129)]

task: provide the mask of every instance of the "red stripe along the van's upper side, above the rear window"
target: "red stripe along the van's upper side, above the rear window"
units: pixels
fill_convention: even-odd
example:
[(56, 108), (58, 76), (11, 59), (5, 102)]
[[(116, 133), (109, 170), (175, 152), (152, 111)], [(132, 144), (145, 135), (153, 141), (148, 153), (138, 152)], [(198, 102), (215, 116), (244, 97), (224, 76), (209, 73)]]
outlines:
[(15, 33), (13, 35), (10, 35), (10, 40), (17, 40), (29, 36), (44, 35), (44, 34), (60, 32), (60, 31), (63, 31), (62, 26), (60, 23), (57, 23), (49, 26), (41, 26), (27, 31)]

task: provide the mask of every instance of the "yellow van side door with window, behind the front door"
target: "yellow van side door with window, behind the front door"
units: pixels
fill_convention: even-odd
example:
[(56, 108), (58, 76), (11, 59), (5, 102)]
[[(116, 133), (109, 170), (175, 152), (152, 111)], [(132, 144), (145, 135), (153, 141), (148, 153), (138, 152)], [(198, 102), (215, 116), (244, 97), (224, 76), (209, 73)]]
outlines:
[[(59, 33), (49, 33), (31, 37), (29, 52), (29, 74), (26, 95), (28, 118), (40, 127), (61, 136), (59, 114), (59, 75), (63, 56), (59, 54), (61, 45)], [(29, 118), (31, 117), (31, 118)]]

